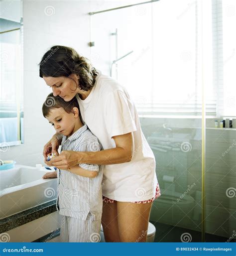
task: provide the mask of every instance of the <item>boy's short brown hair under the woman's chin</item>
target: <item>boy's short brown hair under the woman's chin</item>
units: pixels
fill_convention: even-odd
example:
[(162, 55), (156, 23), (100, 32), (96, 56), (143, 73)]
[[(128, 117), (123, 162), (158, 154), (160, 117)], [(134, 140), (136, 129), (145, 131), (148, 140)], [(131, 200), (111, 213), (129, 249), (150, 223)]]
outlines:
[(80, 110), (76, 97), (66, 102), (60, 96), (53, 96), (53, 94), (50, 93), (43, 103), (42, 112), (43, 116), (46, 118), (49, 116), (51, 109), (63, 108), (67, 113), (71, 113), (74, 107)]

